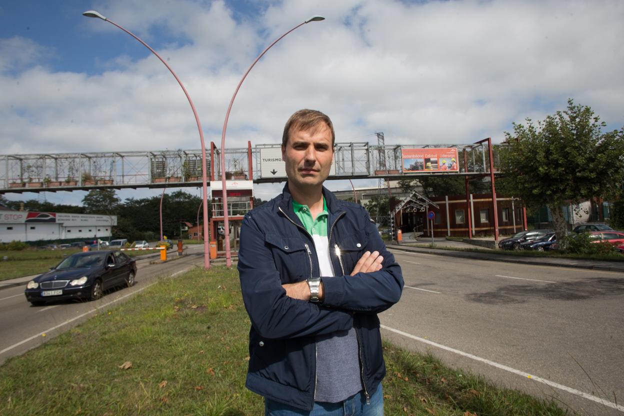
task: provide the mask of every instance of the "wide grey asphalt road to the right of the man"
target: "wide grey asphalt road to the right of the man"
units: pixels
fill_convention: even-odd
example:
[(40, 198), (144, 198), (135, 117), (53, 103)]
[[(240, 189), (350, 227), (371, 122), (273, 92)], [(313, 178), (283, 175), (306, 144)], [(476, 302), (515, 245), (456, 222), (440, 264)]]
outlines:
[(384, 337), (580, 414), (624, 415), (623, 273), (394, 255), (406, 286), (379, 316)]

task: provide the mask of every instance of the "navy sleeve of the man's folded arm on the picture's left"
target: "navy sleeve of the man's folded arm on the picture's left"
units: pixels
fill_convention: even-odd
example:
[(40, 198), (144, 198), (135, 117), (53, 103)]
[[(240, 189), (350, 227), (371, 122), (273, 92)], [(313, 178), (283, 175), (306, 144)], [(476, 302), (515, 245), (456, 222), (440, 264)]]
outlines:
[(328, 309), (286, 296), (273, 255), (250, 215), (245, 216), (241, 228), (238, 272), (251, 324), (262, 337), (331, 334), (353, 326), (353, 316), (348, 311)]

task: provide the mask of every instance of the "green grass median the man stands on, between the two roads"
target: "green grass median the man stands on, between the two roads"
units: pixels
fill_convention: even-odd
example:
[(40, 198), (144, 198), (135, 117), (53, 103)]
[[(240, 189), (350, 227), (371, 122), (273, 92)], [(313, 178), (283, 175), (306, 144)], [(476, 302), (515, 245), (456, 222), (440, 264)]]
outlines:
[[(160, 282), (0, 367), (0, 414), (261, 415), (245, 389), (250, 321), (235, 270)], [(563, 415), (384, 342), (388, 415)], [(120, 369), (132, 362), (129, 369)], [(470, 413), (467, 413), (470, 412)]]

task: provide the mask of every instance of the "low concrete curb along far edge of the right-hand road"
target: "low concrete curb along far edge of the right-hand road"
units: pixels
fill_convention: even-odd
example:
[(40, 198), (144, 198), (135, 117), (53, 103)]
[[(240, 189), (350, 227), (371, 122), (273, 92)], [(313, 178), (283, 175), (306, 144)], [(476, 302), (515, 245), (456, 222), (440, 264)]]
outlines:
[(499, 253), (477, 253), (474, 251), (445, 250), (436, 248), (424, 248), (414, 246), (401, 246), (399, 244), (389, 244), (388, 248), (401, 251), (411, 251), (414, 253), (436, 254), (437, 256), (459, 257), (474, 260), (500, 261), (503, 263), (531, 264), (533, 266), (552, 266), (589, 270), (615, 271), (624, 273), (624, 263), (610, 264), (607, 261), (593, 263), (590, 260), (577, 259), (538, 259), (538, 258), (519, 258), (505, 256)]

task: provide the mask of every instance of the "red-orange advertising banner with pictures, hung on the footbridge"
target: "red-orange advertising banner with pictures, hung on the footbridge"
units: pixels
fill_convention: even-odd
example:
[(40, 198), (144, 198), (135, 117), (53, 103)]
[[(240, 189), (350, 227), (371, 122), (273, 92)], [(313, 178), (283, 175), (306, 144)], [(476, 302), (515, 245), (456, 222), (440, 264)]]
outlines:
[(459, 172), (457, 148), (401, 149), (403, 173)]

